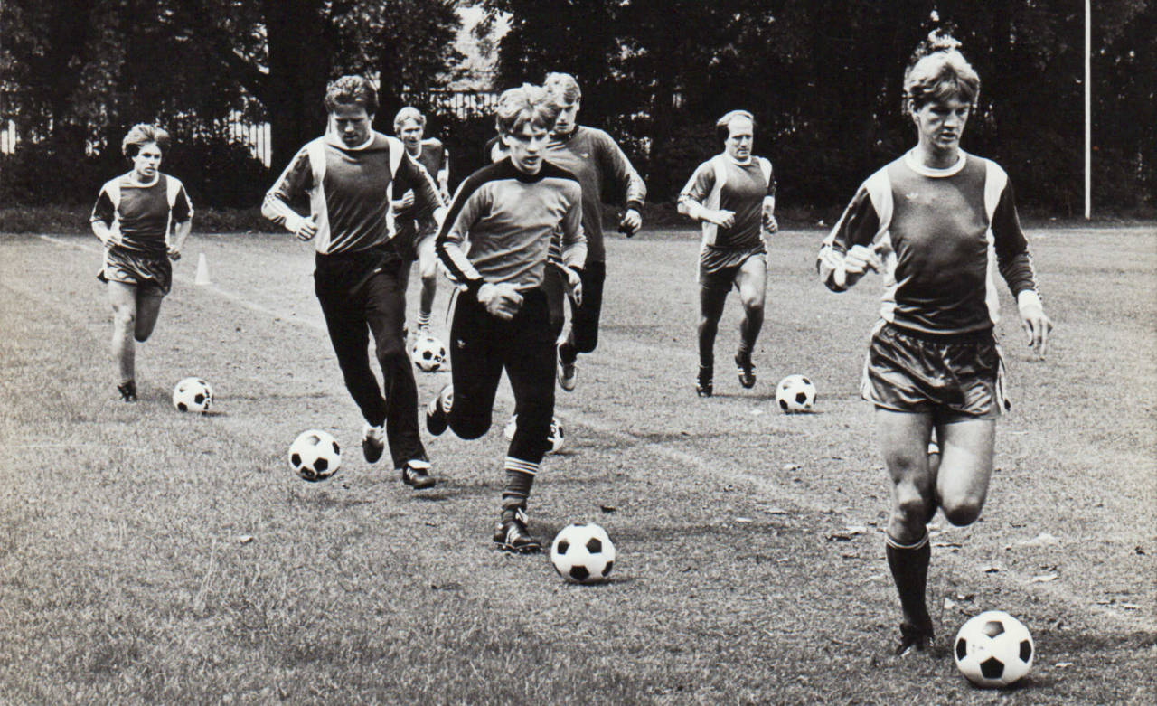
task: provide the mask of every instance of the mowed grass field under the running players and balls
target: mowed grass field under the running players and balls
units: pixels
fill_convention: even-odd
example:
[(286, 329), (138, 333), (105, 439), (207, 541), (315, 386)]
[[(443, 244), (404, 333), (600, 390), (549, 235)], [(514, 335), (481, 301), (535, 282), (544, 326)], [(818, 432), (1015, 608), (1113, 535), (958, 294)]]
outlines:
[[(890, 655), (887, 487), (857, 396), (879, 280), (828, 293), (821, 237), (772, 243), (753, 390), (729, 301), (710, 399), (695, 235), (610, 243), (600, 345), (558, 394), (567, 448), (531, 499), (544, 540), (573, 521), (616, 540), (613, 580), (576, 587), (491, 547), (508, 391), (485, 439), (427, 440), (433, 491), (363, 462), (307, 245), (194, 234), (124, 405), (96, 241), (0, 236), (0, 703), (1157, 700), (1157, 231), (1030, 231), (1057, 329), (1033, 360), (1002, 295), (1014, 414), (982, 520), (935, 521), (937, 653), (916, 659)], [(192, 285), (201, 252), (211, 286)], [(790, 373), (816, 382), (815, 413), (775, 409)], [(187, 375), (214, 413), (172, 410)], [(422, 402), (448, 377), (420, 374)], [(286, 463), (310, 427), (346, 450), (320, 484)], [(1011, 693), (949, 654), (986, 609), (1036, 639)]]

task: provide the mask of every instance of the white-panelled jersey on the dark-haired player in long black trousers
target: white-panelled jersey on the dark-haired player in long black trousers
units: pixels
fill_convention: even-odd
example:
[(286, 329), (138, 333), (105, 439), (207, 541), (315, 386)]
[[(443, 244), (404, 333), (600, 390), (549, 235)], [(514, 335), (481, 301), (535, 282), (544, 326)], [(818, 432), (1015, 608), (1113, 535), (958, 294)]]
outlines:
[[(265, 194), (261, 213), (282, 226), (301, 216), (289, 203), (309, 194), (310, 214), (317, 219), (317, 251), (322, 255), (358, 252), (393, 236), (390, 186), (395, 193), (414, 190), (414, 215), (430, 215), (442, 205), (437, 184), (425, 169), (404, 159), (397, 138), (370, 133), (359, 147), (346, 147), (332, 135), (317, 138), (297, 150)], [(288, 226), (287, 226), (288, 227)], [(292, 230), (294, 228), (290, 228)]]

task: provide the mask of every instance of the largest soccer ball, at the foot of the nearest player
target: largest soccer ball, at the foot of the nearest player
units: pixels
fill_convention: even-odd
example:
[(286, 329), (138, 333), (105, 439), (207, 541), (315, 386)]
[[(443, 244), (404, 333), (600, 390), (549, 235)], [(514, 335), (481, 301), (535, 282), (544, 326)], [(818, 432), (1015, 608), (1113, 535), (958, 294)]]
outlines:
[(1003, 610), (973, 616), (956, 633), (956, 665), (977, 686), (1008, 686), (1032, 669), (1032, 635)]

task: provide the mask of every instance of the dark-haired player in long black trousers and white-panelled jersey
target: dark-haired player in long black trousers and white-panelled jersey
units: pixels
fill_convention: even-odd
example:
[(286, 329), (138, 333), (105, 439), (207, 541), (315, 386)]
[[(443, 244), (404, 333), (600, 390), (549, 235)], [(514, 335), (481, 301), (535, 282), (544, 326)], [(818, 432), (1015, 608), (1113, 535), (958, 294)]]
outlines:
[[(441, 220), (434, 181), (396, 138), (371, 130), (377, 89), (362, 76), (341, 76), (325, 93), (327, 130), (302, 147), (265, 194), (261, 213), (300, 241), (314, 240), (314, 291), (346, 389), (366, 425), (369, 463), (390, 443), (393, 468), (414, 490), (434, 485), (418, 434), (418, 388), (403, 326), (413, 234), (390, 237), (390, 187), (413, 190), (415, 220)], [(310, 215), (289, 204), (309, 194)], [(382, 388), (369, 363), (369, 333), (382, 367)], [(384, 396), (383, 396), (384, 391)], [(385, 428), (383, 429), (383, 424)]]

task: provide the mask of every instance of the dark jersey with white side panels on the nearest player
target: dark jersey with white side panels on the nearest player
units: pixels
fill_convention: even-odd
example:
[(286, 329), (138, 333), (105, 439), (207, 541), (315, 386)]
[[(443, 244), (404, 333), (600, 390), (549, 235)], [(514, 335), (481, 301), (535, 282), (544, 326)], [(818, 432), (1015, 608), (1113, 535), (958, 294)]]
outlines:
[(842, 257), (853, 245), (884, 256), (880, 316), (905, 329), (992, 329), (1000, 319), (997, 272), (1014, 296), (1037, 289), (1008, 175), (964, 152), (946, 169), (924, 167), (909, 152), (860, 186), (820, 250), (828, 288), (840, 289), (825, 249)]

